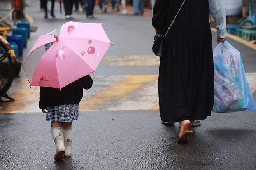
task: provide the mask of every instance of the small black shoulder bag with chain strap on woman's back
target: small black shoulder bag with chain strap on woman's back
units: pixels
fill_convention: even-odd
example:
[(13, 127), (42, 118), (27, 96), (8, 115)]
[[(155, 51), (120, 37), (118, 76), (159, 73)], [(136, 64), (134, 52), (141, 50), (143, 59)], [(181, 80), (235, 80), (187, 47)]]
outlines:
[(169, 26), (169, 28), (167, 29), (165, 35), (163, 36), (162, 34), (156, 34), (154, 37), (154, 42), (153, 42), (153, 46), (152, 46), (152, 51), (154, 52), (154, 54), (156, 56), (162, 57), (163, 56), (163, 48), (164, 48), (164, 38), (167, 35), (168, 31), (171, 29), (172, 25), (174, 24), (174, 21), (176, 19), (176, 17), (178, 16), (182, 6), (184, 5), (184, 3), (186, 2), (186, 0), (183, 1), (183, 3), (181, 4), (181, 7), (179, 9), (179, 11), (177, 12), (176, 16), (174, 17), (174, 20), (172, 21), (171, 25)]

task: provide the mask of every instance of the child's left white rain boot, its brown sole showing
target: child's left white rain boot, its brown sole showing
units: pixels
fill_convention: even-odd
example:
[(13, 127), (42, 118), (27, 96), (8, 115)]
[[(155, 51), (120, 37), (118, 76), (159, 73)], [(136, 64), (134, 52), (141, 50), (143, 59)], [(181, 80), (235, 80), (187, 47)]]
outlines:
[(54, 155), (55, 160), (62, 160), (64, 158), (65, 146), (64, 137), (60, 127), (52, 128), (53, 139), (56, 145), (56, 154)]

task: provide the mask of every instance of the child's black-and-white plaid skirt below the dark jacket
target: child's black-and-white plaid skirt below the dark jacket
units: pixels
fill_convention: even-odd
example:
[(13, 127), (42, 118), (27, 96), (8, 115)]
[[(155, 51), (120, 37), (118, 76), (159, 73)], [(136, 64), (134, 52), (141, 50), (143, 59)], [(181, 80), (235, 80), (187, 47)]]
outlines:
[(78, 104), (65, 104), (48, 107), (46, 120), (54, 122), (73, 122), (78, 119), (78, 116)]

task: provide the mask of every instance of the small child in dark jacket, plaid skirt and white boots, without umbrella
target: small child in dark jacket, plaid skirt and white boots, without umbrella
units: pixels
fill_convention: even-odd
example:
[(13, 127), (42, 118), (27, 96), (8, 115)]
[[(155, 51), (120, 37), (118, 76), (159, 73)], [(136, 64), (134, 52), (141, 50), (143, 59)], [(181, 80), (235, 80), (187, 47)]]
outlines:
[(57, 88), (40, 87), (39, 108), (46, 113), (46, 120), (51, 121), (56, 145), (55, 160), (71, 156), (72, 122), (78, 118), (78, 104), (83, 97), (83, 88), (87, 90), (92, 85), (91, 76), (86, 75), (61, 91)]

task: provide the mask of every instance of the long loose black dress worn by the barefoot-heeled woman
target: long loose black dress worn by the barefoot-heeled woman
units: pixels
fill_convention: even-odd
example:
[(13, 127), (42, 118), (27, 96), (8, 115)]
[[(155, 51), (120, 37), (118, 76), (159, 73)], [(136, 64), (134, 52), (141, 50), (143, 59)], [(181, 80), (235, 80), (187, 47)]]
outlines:
[[(152, 25), (170, 26), (183, 0), (156, 0)], [(162, 121), (203, 120), (214, 102), (212, 35), (208, 0), (186, 0), (165, 37), (158, 93)]]

